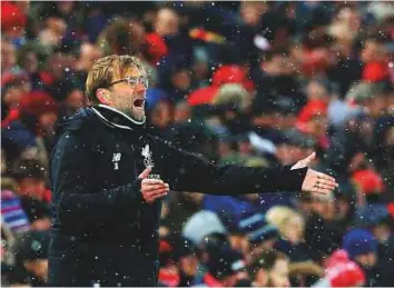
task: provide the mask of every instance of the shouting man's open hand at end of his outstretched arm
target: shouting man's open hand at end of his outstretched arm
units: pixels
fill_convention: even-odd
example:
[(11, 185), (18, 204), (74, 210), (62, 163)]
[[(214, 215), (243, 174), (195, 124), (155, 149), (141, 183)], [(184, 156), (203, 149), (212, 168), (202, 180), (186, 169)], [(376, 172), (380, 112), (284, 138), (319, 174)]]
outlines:
[[(312, 162), (312, 160), (315, 159), (315, 157), (316, 153), (313, 152), (308, 157), (295, 163), (292, 167), (292, 170), (307, 167)], [(335, 179), (333, 177), (308, 168), (303, 181), (302, 190), (305, 192), (329, 195), (332, 191), (334, 191), (336, 187), (338, 187), (338, 183), (335, 182)]]

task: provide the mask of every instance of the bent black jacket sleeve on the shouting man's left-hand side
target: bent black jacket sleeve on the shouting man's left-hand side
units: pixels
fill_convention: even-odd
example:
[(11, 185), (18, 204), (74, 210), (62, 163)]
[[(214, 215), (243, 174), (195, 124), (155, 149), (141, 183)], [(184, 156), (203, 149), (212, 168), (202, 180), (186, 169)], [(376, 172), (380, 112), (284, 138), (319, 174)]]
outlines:
[(140, 180), (115, 189), (95, 190), (96, 167), (91, 151), (82, 142), (78, 135), (66, 132), (52, 152), (50, 178), (56, 211), (65, 225), (114, 224), (114, 219), (139, 205)]

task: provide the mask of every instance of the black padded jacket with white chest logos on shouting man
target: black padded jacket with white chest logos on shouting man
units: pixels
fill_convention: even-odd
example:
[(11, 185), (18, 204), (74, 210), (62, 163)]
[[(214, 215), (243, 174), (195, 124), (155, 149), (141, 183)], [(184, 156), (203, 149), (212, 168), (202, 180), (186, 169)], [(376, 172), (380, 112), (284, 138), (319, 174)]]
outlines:
[[(173, 190), (214, 195), (299, 190), (306, 173), (306, 168), (219, 168), (147, 133), (144, 126), (117, 110), (102, 106), (82, 108), (62, 127), (51, 153), (50, 284), (61, 285), (56, 280), (59, 269), (63, 269), (61, 264), (72, 259), (86, 261), (88, 267), (111, 264), (102, 269), (120, 269), (124, 275), (140, 278), (147, 277), (138, 272), (147, 269), (145, 264), (156, 271), (161, 201), (145, 203), (138, 179), (151, 163), (152, 173), (159, 175)], [(125, 265), (114, 267), (120, 262)], [(97, 278), (99, 268), (90, 274), (90, 278)], [(120, 282), (152, 286), (155, 281)]]

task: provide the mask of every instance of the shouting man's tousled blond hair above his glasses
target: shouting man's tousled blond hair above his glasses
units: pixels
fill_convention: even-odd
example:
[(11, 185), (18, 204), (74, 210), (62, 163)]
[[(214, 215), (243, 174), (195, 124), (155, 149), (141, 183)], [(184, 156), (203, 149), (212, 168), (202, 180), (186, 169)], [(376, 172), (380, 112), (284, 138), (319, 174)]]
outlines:
[(141, 61), (134, 56), (129, 54), (111, 54), (98, 59), (91, 70), (88, 73), (86, 80), (85, 93), (88, 98), (89, 105), (97, 105), (98, 100), (96, 91), (99, 88), (108, 88), (108, 86), (115, 81), (115, 77), (122, 78), (125, 73), (131, 68), (137, 67), (144, 75), (145, 68)]

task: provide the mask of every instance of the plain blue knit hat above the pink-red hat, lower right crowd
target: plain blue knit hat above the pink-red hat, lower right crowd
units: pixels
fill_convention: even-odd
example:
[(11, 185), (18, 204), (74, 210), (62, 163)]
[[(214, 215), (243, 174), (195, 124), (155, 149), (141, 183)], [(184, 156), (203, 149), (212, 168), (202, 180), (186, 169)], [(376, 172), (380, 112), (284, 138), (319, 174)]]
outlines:
[(355, 258), (359, 255), (376, 252), (377, 241), (368, 230), (355, 229), (345, 236), (343, 248), (351, 258)]

